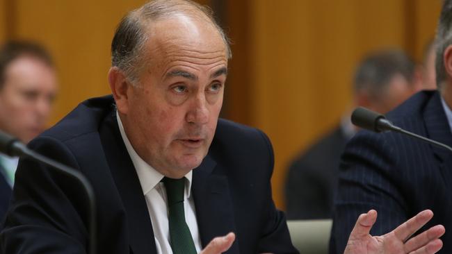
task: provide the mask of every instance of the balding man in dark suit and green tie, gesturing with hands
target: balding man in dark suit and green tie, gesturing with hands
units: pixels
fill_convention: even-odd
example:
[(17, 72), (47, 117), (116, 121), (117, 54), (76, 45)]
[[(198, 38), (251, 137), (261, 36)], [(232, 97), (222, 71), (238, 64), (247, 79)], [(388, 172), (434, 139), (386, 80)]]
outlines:
[[(230, 53), (209, 12), (191, 1), (146, 3), (122, 19), (112, 55), (113, 96), (81, 103), (29, 145), (92, 183), (97, 252), (297, 253), (271, 198), (268, 138), (218, 119)], [(3, 252), (85, 253), (88, 201), (79, 189), (22, 160), (0, 234)], [(434, 253), (442, 226), (402, 242), (432, 215), (421, 212), (392, 235), (371, 237), (376, 212), (362, 214), (347, 253), (426, 245)]]

